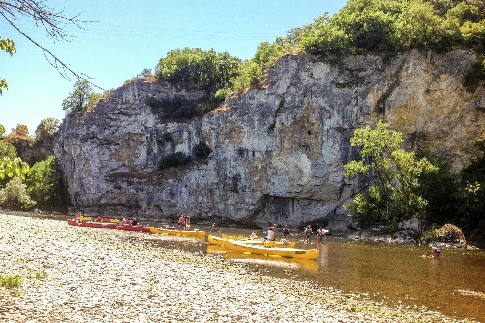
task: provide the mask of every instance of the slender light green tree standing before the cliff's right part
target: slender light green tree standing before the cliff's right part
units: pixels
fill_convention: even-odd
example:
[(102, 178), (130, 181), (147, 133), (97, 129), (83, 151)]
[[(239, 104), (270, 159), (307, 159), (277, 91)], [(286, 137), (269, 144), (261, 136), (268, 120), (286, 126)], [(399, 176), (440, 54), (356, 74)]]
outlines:
[(401, 220), (416, 217), (421, 229), (427, 201), (413, 189), (420, 185), (421, 174), (436, 172), (437, 167), (425, 158), (417, 159), (414, 152), (405, 152), (400, 146), (401, 133), (387, 129), (380, 120), (375, 129), (356, 129), (350, 143), (359, 147), (360, 159), (344, 166), (345, 176), (361, 174), (373, 179), (366, 192), (345, 206), (352, 219), (360, 226), (382, 223), (390, 229)]

